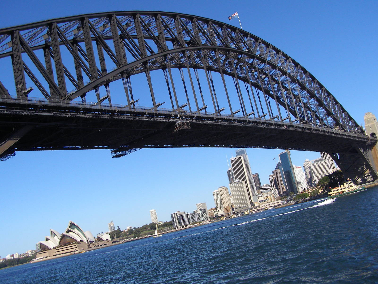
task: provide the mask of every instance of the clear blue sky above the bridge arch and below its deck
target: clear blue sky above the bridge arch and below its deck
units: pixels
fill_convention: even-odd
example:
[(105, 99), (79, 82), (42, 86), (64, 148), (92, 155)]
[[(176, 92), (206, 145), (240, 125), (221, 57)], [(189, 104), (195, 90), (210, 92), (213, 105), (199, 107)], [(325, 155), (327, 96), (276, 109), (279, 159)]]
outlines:
[[(365, 112), (378, 115), (375, 56), (376, 1), (8, 1), (0, 27), (89, 12), (160, 10), (230, 23), (238, 11), (244, 30), (270, 42), (311, 72), (358, 122)], [(105, 3), (105, 4), (104, 4)], [(281, 150), (248, 149), (253, 172), (262, 183)], [(143, 149), (112, 159), (107, 150), (17, 152), (0, 162), (2, 218), (0, 256), (34, 249), (49, 229), (64, 231), (73, 220), (94, 235), (116, 226), (150, 223), (195, 204), (214, 206), (212, 191), (228, 186), (226, 156), (235, 149)], [(302, 165), (319, 153), (292, 151)], [(273, 161), (273, 158), (276, 160)]]

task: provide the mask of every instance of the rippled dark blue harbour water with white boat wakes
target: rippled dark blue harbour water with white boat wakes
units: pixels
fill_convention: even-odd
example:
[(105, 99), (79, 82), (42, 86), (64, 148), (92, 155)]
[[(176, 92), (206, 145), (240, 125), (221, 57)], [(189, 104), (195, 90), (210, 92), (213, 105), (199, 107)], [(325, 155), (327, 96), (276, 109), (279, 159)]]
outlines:
[(377, 283), (378, 186), (0, 270), (1, 283)]

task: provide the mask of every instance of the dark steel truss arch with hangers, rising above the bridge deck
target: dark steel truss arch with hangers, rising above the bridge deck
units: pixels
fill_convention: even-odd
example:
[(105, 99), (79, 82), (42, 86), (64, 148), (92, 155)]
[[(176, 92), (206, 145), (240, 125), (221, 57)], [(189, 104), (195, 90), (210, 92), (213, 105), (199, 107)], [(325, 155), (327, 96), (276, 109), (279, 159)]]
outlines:
[[(151, 11), (46, 20), (0, 30), (0, 61), (7, 62), (6, 70), (13, 73), (12, 80), (0, 75), (0, 103), (2, 111), (8, 113), (20, 112), (28, 104), (43, 104), (50, 111), (57, 106), (75, 108), (81, 104), (81, 109), (132, 113), (140, 111), (138, 104), (143, 101), (146, 114), (169, 111), (170, 119), (176, 122), (183, 116), (193, 122), (200, 117), (212, 122), (242, 121), (327, 133), (327, 137), (347, 140), (338, 148), (322, 146), (344, 174), (356, 181), (377, 178), (370, 162), (376, 139), (365, 136), (336, 98), (290, 56), (222, 22)], [(158, 84), (153, 80), (156, 72), (163, 73)], [(143, 97), (137, 91), (141, 87), (138, 80), (133, 80), (141, 73), (149, 90)], [(116, 103), (121, 97), (119, 88), (111, 89), (117, 82), (122, 82), (120, 104)], [(163, 103), (166, 109), (161, 108)], [(18, 108), (20, 105), (24, 108)], [(2, 138), (28, 135), (33, 129), (20, 126), (18, 134), (5, 131)], [(3, 147), (3, 154), (54, 148), (41, 144), (27, 149), (16, 147), (19, 139), (13, 141), (14, 146), (8, 141), (6, 145), (11, 146)], [(286, 144), (287, 148), (316, 150)], [(262, 147), (263, 143), (244, 145)], [(114, 141), (101, 146), (114, 147), (114, 156), (148, 147)]]

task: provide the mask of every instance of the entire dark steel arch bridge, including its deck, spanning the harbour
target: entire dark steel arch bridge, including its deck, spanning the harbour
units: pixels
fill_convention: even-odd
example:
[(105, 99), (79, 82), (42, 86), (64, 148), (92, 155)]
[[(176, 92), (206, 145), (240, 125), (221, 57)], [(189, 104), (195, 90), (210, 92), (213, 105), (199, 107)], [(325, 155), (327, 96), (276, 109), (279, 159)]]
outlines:
[(30, 150), (288, 148), (330, 153), (357, 183), (378, 178), (376, 137), (290, 56), (222, 22), (152, 11), (46, 20), (1, 29), (0, 62), (2, 160)]

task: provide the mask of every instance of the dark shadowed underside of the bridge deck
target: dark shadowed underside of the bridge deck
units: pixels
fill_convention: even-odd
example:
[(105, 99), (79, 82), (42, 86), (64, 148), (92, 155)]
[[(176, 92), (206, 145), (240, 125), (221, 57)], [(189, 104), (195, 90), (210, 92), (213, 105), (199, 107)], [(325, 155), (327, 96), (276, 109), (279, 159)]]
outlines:
[(367, 142), (348, 133), (317, 132), (271, 120), (203, 114), (186, 119), (191, 129), (175, 132), (180, 119), (174, 112), (15, 104), (0, 106), (0, 138), (27, 125), (34, 127), (14, 144), (14, 150), (254, 147), (344, 153), (352, 144)]

